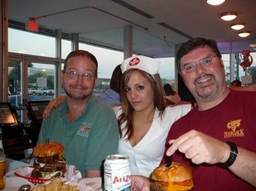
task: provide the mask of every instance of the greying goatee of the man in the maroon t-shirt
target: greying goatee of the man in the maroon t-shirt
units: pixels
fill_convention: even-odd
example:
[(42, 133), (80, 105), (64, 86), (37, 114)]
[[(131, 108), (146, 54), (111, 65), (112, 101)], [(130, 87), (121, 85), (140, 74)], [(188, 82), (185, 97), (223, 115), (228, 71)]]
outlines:
[[(210, 93), (207, 93), (207, 94), (203, 94), (203, 93), (200, 93), (200, 91), (198, 91), (198, 89), (204, 89), (204, 88), (207, 88), (207, 86), (202, 86), (200, 88), (198, 88), (196, 85), (195, 85), (195, 90), (196, 90), (196, 95), (200, 98), (202, 98), (203, 100), (211, 100), (212, 98), (214, 98), (216, 95), (218, 95), (219, 93), (219, 89), (220, 89), (220, 86), (218, 84), (218, 82), (216, 81), (214, 75), (211, 75), (211, 74), (207, 74), (207, 76), (211, 76), (212, 79), (214, 79), (214, 82), (212, 82), (210, 84), (210, 86), (215, 86), (215, 89), (214, 91), (210, 92)], [(197, 79), (196, 79), (197, 80)], [(196, 81), (195, 80), (195, 81)], [(195, 82), (196, 84), (196, 82)], [(208, 85), (209, 86), (209, 85)]]

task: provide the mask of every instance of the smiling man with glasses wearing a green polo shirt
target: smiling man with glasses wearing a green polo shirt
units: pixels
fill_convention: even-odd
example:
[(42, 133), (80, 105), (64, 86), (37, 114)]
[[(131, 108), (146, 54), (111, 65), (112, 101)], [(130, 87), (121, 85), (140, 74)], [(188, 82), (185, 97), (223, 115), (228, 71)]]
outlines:
[(44, 119), (38, 138), (58, 141), (68, 165), (83, 177), (101, 176), (102, 161), (118, 151), (118, 124), (113, 109), (93, 96), (97, 59), (84, 50), (68, 54), (61, 73), (65, 100)]

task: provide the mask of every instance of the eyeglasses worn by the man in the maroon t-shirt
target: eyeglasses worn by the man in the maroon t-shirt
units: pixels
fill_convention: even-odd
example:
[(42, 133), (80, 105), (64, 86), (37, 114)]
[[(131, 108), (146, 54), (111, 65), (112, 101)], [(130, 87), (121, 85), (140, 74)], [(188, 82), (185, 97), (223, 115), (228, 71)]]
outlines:
[(201, 66), (206, 68), (210, 66), (212, 63), (214, 63), (214, 57), (216, 56), (208, 56), (196, 62), (186, 63), (180, 68), (180, 70), (183, 70), (186, 73), (193, 72), (196, 70), (196, 63), (200, 63)]

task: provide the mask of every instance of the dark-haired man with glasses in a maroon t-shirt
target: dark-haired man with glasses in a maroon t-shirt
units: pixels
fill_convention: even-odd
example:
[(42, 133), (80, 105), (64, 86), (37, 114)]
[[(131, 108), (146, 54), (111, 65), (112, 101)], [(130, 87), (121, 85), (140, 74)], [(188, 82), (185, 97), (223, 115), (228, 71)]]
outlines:
[(173, 161), (189, 165), (194, 191), (255, 190), (256, 92), (227, 88), (214, 40), (183, 43), (177, 66), (197, 105), (173, 123), (161, 164), (172, 155)]

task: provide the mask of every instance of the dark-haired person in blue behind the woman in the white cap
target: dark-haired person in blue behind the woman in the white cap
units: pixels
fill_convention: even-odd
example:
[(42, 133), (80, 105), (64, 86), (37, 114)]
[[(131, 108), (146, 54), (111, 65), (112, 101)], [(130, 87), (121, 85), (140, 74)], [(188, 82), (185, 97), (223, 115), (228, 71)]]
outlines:
[(108, 103), (108, 105), (111, 105), (111, 107), (121, 105), (120, 100), (120, 80), (122, 76), (121, 72), (121, 65), (117, 65), (115, 70), (113, 70), (109, 88), (102, 94), (99, 95), (99, 98), (105, 102)]

